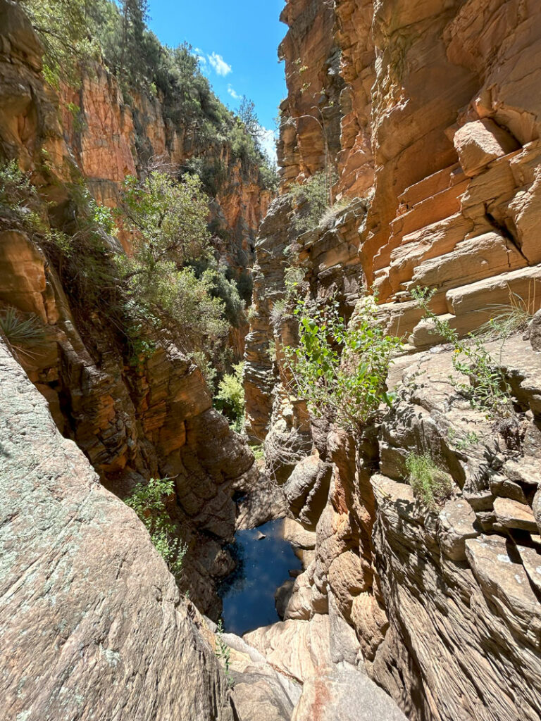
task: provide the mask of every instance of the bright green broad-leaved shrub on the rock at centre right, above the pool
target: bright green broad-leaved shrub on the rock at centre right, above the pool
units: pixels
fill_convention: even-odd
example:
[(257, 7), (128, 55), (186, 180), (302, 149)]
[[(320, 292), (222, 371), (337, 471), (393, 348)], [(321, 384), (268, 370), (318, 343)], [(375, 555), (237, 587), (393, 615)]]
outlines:
[(331, 301), (324, 310), (297, 302), (299, 347), (284, 348), (299, 397), (317, 417), (333, 417), (351, 430), (370, 423), (382, 402), (390, 404), (386, 379), (400, 339), (385, 335), (366, 298), (349, 325)]

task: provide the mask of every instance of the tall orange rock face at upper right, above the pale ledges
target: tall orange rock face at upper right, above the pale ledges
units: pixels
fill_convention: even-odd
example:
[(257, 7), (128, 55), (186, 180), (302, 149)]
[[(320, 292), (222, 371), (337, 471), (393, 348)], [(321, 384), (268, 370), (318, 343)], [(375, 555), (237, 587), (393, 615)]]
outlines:
[[(402, 332), (426, 345), (405, 303), (413, 286), (431, 286), (434, 311), (450, 314), (461, 333), (474, 329), (475, 315), (454, 304), (450, 288), (471, 285), (465, 292), (482, 309), (494, 295), (491, 278), (514, 293), (508, 274), (541, 262), (541, 9), (519, 0), (384, 1), (374, 12), (371, 2), (340, 0), (331, 12), (323, 2), (296, 1), (282, 18), (290, 28), (281, 45), (285, 186), (325, 168), (320, 128), (298, 118), (334, 112), (338, 93), (329, 128), (339, 120), (340, 136), (327, 133), (327, 166), (338, 170), (335, 195), (371, 197), (359, 255), (389, 327), (400, 317)], [(338, 68), (341, 83), (321, 68)], [(303, 75), (317, 88), (317, 107), (309, 107)], [(527, 285), (522, 299), (535, 311), (536, 271)]]

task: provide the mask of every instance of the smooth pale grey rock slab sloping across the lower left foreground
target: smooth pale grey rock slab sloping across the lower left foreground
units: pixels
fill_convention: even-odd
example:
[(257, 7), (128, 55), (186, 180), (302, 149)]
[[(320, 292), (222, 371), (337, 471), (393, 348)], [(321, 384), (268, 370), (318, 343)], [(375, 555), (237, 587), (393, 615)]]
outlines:
[(1, 339), (0, 373), (2, 717), (232, 720), (201, 616), (135, 513)]

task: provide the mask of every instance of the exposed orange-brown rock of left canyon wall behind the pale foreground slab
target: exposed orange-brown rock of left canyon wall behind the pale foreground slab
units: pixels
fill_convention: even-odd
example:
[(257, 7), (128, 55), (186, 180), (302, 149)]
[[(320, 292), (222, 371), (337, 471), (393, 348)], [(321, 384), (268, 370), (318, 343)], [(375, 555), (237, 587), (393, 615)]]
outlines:
[[(100, 66), (84, 77), (85, 122), (75, 131), (43, 80), (42, 49), (30, 23), (9, 0), (0, 2), (0, 26), (1, 150), (32, 169), (45, 198), (69, 205), (58, 181), (78, 167), (96, 197), (114, 204), (120, 181), (144, 157), (165, 155), (177, 163), (193, 151), (164, 123), (157, 102), (139, 98), (136, 111), (123, 105), (115, 79)], [(250, 233), (266, 202), (257, 185), (242, 185), (238, 171), (230, 178), (234, 190), (221, 198), (221, 209), (216, 205), (232, 231), (224, 255), (233, 265), (243, 245), (250, 254)], [(234, 534), (233, 486), (245, 487), (258, 471), (213, 410), (199, 368), (167, 338), (150, 358), (130, 363), (115, 340), (118, 329), (84, 298), (66, 295), (39, 243), (7, 220), (0, 229), (0, 302), (40, 319), (39, 348), (22, 350), (19, 361), (61, 433), (84, 451), (102, 483), (123, 497), (151, 477), (175, 479), (170, 513), (188, 544), (185, 585), (201, 611), (219, 615), (216, 579), (234, 567), (221, 547)]]

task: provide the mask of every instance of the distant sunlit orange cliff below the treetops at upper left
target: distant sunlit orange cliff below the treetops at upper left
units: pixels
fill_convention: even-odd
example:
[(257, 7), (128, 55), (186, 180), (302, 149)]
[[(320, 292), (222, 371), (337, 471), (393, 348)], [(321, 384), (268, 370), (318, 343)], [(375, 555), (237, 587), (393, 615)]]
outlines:
[[(79, 108), (71, 112), (70, 108)], [(77, 90), (61, 93), (62, 130), (94, 197), (114, 206), (127, 174), (137, 175), (148, 165), (186, 170), (192, 157), (210, 159), (227, 169), (226, 179), (211, 205), (217, 229), (229, 242), (223, 255), (232, 267), (250, 267), (253, 240), (267, 212), (271, 193), (258, 183), (259, 169), (242, 172), (231, 146), (201, 147), (193, 128), (175, 125), (164, 116), (158, 98), (136, 94), (127, 105), (114, 76), (94, 63), (84, 71)]]

